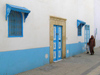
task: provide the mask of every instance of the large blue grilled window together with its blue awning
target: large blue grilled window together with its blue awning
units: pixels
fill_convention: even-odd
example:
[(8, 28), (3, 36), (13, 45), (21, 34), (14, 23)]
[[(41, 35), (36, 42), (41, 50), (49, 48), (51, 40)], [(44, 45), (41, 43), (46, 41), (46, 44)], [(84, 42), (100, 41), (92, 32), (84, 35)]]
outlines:
[(29, 13), (30, 10), (25, 7), (6, 4), (5, 19), (8, 19), (8, 37), (23, 37), (23, 21), (25, 22)]

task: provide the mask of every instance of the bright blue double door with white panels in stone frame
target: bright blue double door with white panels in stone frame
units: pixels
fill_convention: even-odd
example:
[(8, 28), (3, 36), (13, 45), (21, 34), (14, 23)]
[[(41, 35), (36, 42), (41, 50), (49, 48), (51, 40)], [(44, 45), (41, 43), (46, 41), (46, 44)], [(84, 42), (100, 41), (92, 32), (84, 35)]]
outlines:
[(62, 26), (54, 25), (53, 61), (62, 58)]

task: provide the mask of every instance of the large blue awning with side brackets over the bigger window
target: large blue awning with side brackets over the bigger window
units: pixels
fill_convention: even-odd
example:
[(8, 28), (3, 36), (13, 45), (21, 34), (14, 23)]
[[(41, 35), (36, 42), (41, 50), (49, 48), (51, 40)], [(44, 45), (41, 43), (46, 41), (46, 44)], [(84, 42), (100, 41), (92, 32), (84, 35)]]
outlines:
[(24, 22), (25, 22), (25, 19), (28, 16), (28, 14), (30, 13), (30, 10), (28, 10), (25, 7), (19, 7), (19, 6), (15, 6), (15, 5), (6, 4), (6, 20), (7, 20), (7, 17), (9, 16), (11, 10), (18, 11), (18, 12), (23, 12), (24, 16), (25, 16), (24, 17)]

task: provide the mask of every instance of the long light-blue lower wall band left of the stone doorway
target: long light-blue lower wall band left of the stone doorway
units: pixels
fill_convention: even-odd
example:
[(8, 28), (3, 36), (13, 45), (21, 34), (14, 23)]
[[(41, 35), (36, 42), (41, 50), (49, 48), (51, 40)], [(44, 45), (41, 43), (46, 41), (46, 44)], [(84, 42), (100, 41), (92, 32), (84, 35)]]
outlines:
[(14, 75), (49, 64), (49, 56), (49, 47), (0, 52), (0, 75)]

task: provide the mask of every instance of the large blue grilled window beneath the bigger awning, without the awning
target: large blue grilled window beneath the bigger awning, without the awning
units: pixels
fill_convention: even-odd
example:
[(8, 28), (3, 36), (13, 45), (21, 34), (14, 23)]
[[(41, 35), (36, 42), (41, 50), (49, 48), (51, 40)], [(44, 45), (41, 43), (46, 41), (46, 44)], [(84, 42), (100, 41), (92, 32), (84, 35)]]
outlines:
[(23, 36), (22, 14), (17, 11), (11, 11), (8, 18), (9, 18), (8, 36), (9, 37), (22, 37)]

